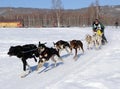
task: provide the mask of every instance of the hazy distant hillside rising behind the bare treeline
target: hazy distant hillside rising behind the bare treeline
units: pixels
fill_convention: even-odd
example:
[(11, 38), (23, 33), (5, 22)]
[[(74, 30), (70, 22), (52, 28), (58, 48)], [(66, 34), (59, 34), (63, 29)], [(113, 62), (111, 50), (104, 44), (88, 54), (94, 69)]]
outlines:
[[(80, 13), (85, 13), (88, 8), (81, 8), (81, 9), (67, 9), (65, 11), (76, 11)], [(112, 16), (120, 16), (120, 5), (116, 6), (101, 6), (101, 12), (104, 14), (109, 14)], [(38, 12), (49, 12), (50, 9), (38, 9), (38, 8), (12, 8), (12, 7), (0, 7), (0, 16), (6, 16), (9, 13), (12, 14), (31, 14), (31, 13), (38, 13)]]

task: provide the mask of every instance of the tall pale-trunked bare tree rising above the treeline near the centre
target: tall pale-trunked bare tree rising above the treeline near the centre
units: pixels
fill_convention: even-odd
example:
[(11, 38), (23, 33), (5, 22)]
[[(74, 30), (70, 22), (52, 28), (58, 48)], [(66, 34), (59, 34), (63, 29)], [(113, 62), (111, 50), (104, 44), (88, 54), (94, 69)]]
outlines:
[(61, 18), (61, 11), (63, 9), (62, 1), (61, 0), (52, 0), (52, 9), (55, 12), (57, 26), (60, 27), (60, 18)]

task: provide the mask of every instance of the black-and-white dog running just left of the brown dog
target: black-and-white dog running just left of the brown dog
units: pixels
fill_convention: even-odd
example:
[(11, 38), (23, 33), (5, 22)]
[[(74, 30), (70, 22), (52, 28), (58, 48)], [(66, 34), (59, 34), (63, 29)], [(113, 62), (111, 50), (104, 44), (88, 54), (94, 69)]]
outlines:
[(69, 52), (68, 48), (70, 50), (70, 44), (67, 41), (59, 40), (56, 43), (53, 42), (53, 44), (58, 51), (65, 49), (67, 52)]

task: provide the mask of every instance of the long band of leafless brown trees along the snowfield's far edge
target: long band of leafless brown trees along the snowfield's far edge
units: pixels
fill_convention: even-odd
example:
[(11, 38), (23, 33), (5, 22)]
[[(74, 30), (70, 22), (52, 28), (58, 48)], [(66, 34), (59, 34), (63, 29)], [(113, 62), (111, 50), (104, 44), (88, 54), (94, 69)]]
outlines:
[(6, 16), (0, 16), (0, 21), (21, 21), (23, 27), (55, 27), (58, 26), (58, 20), (62, 27), (90, 26), (96, 18), (99, 18), (105, 25), (114, 25), (117, 19), (117, 17), (102, 13), (101, 7), (93, 5), (84, 9), (84, 11), (79, 9), (60, 9), (59, 11), (56, 9), (49, 9), (34, 13), (17, 14), (10, 9), (7, 13)]

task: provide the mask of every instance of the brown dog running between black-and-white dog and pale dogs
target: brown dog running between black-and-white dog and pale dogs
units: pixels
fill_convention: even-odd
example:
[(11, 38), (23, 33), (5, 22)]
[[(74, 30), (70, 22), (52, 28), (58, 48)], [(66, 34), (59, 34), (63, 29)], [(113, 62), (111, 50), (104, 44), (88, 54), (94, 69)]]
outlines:
[(83, 53), (84, 53), (83, 43), (80, 40), (72, 40), (72, 41), (70, 41), (70, 48), (71, 48), (71, 51), (72, 51), (72, 49), (75, 49), (74, 58), (77, 57), (77, 49), (80, 50), (80, 48), (81, 48)]

